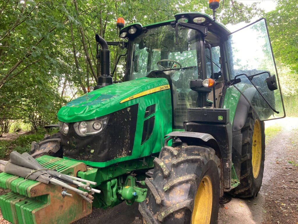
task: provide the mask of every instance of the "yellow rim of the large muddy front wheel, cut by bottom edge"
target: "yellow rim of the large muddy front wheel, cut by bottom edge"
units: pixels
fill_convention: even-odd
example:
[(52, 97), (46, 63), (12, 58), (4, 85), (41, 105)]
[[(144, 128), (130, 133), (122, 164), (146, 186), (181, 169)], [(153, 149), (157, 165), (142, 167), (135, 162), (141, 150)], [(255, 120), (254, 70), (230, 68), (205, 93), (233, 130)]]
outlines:
[(201, 180), (194, 202), (191, 223), (210, 223), (212, 211), (212, 183), (210, 177), (205, 176)]

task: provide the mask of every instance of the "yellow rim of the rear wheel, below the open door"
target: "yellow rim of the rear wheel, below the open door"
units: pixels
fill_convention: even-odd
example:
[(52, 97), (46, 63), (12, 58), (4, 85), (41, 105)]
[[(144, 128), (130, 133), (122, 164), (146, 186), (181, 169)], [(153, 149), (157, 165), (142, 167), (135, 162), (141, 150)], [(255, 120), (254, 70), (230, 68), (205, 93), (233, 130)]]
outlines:
[(252, 134), (252, 173), (256, 179), (260, 172), (262, 159), (262, 133), (259, 120), (254, 122), (254, 132)]

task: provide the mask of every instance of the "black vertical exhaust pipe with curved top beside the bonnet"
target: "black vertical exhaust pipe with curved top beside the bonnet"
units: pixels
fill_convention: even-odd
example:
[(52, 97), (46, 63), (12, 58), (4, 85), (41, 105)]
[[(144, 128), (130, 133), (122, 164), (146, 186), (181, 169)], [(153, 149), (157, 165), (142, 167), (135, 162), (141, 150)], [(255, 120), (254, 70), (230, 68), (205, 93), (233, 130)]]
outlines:
[(100, 44), (102, 49), (100, 50), (100, 67), (101, 76), (98, 77), (97, 86), (94, 89), (99, 89), (107, 85), (113, 84), (113, 78), (111, 77), (110, 70), (110, 50), (108, 50), (108, 44), (101, 36), (95, 35), (96, 42)]

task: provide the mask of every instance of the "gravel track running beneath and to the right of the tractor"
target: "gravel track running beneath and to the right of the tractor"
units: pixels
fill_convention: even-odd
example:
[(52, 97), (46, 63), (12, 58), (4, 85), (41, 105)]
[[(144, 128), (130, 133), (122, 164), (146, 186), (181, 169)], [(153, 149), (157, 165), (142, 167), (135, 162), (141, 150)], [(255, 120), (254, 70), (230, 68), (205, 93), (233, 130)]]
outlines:
[[(272, 194), (271, 192), (274, 192), (274, 190), (276, 189), (275, 185), (272, 185), (270, 180), (273, 177), (282, 175), (282, 172), (286, 171), (285, 168), (279, 167), (280, 163), (277, 163), (277, 161), (279, 161), (280, 158), (285, 157), (285, 153), (287, 153), (294, 154), (294, 159), (296, 159), (296, 162), (298, 163), (298, 142), (291, 142), (291, 137), (295, 135), (297, 136), (298, 134), (298, 118), (287, 117), (284, 119), (277, 119), (265, 122), (266, 127), (276, 124), (282, 126), (283, 130), (278, 134), (278, 136), (271, 139), (271, 141), (266, 145), (263, 185), (258, 196), (254, 199), (243, 200), (238, 198), (231, 198), (229, 197), (229, 195), (225, 194), (224, 198), (221, 199), (218, 224), (298, 224), (298, 205), (296, 205), (298, 204), (298, 201), (296, 199), (290, 198), (290, 200), (293, 201), (288, 202), (288, 204), (293, 204), (296, 208), (293, 215), (291, 215), (289, 222), (286, 220), (284, 222), (276, 220), (274, 215), (279, 214), (279, 212), (282, 210), (279, 208), (279, 206), (274, 209), (271, 209), (270, 207), (268, 208), (268, 204), (270, 203), (266, 201), (266, 198), (268, 198), (268, 194)], [(288, 151), (285, 152), (285, 150)], [(290, 174), (292, 176), (292, 179), (298, 180), (298, 167), (293, 167), (292, 170), (295, 171)], [(296, 183), (296, 186), (298, 186), (298, 183)], [(282, 194), (287, 194), (286, 191), (288, 192), (290, 190), (288, 188), (278, 189)], [(296, 195), (297, 192), (298, 191), (296, 190)], [(275, 202), (273, 203), (276, 204)], [(278, 203), (283, 206), (283, 202)], [(284, 213), (286, 214), (287, 211), (285, 210)], [(75, 223), (142, 224), (142, 216), (138, 211), (137, 203), (129, 206), (126, 205), (124, 202), (120, 205), (115, 206), (114, 208), (110, 208), (107, 210), (94, 209), (92, 211), (92, 214), (81, 220), (78, 220)]]

